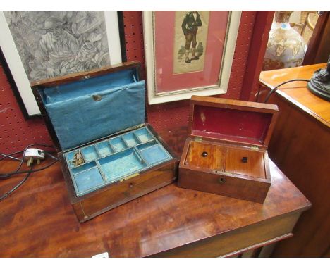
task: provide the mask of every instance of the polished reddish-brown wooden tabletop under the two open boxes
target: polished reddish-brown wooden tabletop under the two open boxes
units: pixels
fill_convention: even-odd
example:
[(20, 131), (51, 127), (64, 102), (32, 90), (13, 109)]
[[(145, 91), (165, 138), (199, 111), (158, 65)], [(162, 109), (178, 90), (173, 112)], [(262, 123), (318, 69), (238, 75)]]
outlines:
[[(186, 130), (164, 131), (161, 136), (180, 153)], [(17, 162), (0, 165), (0, 173), (4, 173)], [(0, 202), (0, 256), (90, 257), (103, 252), (110, 257), (151, 256), (309, 208), (310, 201), (279, 168), (272, 162), (270, 167), (272, 184), (264, 204), (171, 184), (79, 223), (56, 163), (32, 174)], [(0, 180), (0, 194), (20, 178)]]

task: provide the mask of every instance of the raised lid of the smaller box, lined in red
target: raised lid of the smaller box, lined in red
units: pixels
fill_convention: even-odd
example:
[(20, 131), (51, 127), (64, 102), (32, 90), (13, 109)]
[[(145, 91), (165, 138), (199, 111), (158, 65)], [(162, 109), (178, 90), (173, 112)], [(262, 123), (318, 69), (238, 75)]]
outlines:
[(278, 113), (273, 104), (192, 96), (190, 137), (267, 149)]

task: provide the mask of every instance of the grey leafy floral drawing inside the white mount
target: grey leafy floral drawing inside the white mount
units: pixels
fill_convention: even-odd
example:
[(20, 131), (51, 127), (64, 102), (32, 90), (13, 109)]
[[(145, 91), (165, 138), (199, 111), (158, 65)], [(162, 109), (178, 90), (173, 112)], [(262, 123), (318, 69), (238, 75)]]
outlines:
[(103, 11), (4, 11), (30, 82), (110, 64)]

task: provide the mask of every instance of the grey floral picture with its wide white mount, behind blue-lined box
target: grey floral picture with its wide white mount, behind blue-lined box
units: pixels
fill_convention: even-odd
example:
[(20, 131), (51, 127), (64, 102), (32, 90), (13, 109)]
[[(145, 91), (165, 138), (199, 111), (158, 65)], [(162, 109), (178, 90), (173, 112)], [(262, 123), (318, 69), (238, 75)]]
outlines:
[(117, 11), (0, 11), (0, 29), (4, 69), (25, 118), (40, 113), (31, 83), (122, 61)]

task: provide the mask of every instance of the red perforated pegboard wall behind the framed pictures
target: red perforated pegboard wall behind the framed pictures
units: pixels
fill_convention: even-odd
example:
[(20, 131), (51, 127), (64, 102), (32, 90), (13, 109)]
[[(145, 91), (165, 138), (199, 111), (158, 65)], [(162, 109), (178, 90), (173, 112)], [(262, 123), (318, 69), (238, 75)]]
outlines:
[[(250, 49), (256, 11), (243, 11), (238, 30), (228, 92), (221, 97), (239, 99), (243, 85), (247, 55)], [(142, 79), (145, 79), (145, 54), (141, 11), (124, 11), (124, 30), (127, 61), (142, 63)], [(176, 101), (147, 106), (148, 122), (157, 131), (169, 131), (188, 125), (189, 101)], [(8, 79), (0, 65), (0, 152), (20, 151), (28, 144), (51, 144), (42, 118), (25, 120), (11, 91)]]

